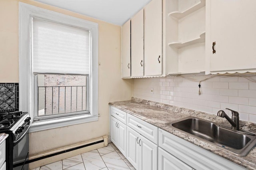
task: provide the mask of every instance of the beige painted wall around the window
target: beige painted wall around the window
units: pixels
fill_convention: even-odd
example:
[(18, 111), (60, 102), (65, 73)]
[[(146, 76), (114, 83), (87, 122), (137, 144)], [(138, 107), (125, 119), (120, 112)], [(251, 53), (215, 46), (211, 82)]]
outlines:
[(1, 83), (19, 81), (19, 1), (99, 24), (99, 121), (30, 133), (30, 155), (108, 135), (108, 103), (129, 100), (132, 96), (132, 80), (120, 78), (121, 27), (32, 0), (0, 0)]

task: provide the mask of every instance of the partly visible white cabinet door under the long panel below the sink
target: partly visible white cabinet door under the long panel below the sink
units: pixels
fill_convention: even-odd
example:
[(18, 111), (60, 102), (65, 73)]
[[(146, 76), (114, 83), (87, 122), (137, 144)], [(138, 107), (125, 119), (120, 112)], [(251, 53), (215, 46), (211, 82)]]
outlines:
[(190, 166), (158, 147), (159, 170), (193, 170)]

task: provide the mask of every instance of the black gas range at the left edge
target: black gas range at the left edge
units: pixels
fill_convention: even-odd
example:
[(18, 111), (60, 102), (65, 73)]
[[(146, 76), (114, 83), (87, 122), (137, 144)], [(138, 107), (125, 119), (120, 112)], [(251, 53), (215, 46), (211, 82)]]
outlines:
[(0, 113), (0, 133), (9, 134), (6, 139), (7, 170), (28, 170), (28, 164), (24, 163), (28, 158), (30, 119), (28, 112)]

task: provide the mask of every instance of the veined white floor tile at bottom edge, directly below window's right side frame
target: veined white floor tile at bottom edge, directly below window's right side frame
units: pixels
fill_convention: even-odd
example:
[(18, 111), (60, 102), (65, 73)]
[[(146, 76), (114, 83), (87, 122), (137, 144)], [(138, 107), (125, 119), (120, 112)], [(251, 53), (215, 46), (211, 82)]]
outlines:
[(97, 150), (92, 150), (81, 155), (86, 170), (100, 170), (106, 167)]

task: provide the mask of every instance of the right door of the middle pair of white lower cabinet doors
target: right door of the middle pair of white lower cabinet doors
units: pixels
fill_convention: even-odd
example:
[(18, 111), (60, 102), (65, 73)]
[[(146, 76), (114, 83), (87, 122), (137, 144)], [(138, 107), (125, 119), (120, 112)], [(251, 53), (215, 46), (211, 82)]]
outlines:
[(140, 170), (157, 170), (158, 146), (140, 135)]

